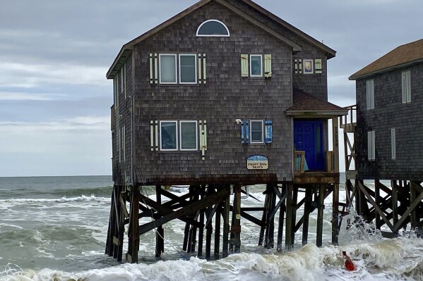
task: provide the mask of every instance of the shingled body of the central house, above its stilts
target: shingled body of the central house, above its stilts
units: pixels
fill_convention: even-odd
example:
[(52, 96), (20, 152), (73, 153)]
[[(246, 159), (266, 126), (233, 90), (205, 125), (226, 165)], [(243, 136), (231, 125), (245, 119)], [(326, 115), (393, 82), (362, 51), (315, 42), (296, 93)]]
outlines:
[(338, 182), (334, 56), (249, 0), (199, 1), (133, 39), (107, 72), (115, 185), (302, 183), (295, 149), (319, 173), (304, 182)]

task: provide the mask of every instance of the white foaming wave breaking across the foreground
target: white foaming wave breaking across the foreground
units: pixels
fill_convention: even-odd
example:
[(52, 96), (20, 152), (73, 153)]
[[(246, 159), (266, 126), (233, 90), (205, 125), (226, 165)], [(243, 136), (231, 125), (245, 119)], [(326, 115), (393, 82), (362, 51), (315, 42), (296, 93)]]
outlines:
[[(356, 270), (345, 270), (341, 253), (347, 251)], [(97, 254), (97, 253), (96, 253)], [(153, 264), (123, 264), (79, 273), (44, 269), (3, 273), (1, 280), (423, 280), (423, 240), (399, 237), (377, 243), (324, 246), (313, 244), (278, 254), (232, 254), (218, 261), (189, 260)], [(1, 274), (0, 274), (1, 276)]]

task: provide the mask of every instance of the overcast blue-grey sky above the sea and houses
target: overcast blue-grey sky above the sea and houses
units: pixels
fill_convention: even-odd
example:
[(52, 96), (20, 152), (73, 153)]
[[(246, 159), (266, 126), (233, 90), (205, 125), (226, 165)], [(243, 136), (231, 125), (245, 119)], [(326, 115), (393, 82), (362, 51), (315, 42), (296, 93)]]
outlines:
[[(121, 46), (195, 0), (15, 0), (0, 9), (0, 176), (111, 175), (112, 81)], [(256, 0), (337, 51), (329, 100), (347, 77), (422, 38), (422, 0)]]

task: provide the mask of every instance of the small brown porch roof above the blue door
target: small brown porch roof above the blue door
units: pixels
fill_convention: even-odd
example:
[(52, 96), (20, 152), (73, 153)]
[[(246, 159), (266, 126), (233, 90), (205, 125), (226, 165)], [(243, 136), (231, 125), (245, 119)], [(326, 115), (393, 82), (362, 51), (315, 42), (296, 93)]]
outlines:
[(325, 117), (331, 118), (340, 115), (347, 115), (348, 110), (331, 104), (328, 101), (318, 99), (311, 94), (294, 90), (292, 99), (292, 106), (288, 108), (285, 113), (291, 116), (311, 118), (311, 117)]

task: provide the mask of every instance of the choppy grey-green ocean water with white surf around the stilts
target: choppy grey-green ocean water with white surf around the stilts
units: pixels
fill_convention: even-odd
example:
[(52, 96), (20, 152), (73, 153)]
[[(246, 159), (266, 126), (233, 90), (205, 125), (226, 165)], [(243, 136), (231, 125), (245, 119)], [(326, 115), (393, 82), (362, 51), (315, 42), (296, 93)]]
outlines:
[[(143, 192), (154, 198), (153, 190)], [(412, 231), (383, 239), (371, 225), (348, 225), (357, 220), (350, 214), (342, 220), (340, 245), (331, 245), (331, 197), (320, 248), (316, 212), (306, 246), (297, 232), (293, 251), (264, 249), (257, 246), (258, 227), (242, 219), (242, 253), (212, 261), (181, 251), (184, 223), (174, 220), (164, 225), (162, 258), (154, 258), (155, 233), (148, 232), (141, 235), (141, 263), (117, 263), (104, 254), (111, 192), (109, 176), (0, 177), (0, 280), (423, 280), (423, 239)], [(262, 186), (251, 187), (242, 206), (263, 206), (262, 192)], [(340, 196), (345, 200), (342, 190)], [(345, 270), (342, 251), (357, 270)]]

